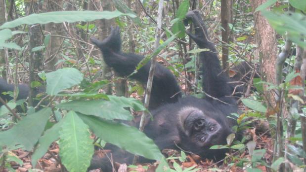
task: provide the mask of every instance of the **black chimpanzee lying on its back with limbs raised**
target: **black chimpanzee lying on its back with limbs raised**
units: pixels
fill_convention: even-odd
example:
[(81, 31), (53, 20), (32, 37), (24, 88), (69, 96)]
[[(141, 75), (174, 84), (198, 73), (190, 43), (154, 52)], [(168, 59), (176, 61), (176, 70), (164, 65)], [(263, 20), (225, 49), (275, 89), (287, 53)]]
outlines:
[[(195, 34), (186, 33), (199, 48), (209, 49), (200, 53), (203, 89), (209, 96), (204, 99), (192, 96), (182, 98), (174, 75), (157, 64), (149, 105), (153, 120), (148, 117), (144, 133), (161, 150), (184, 150), (203, 158), (220, 160), (225, 156), (226, 150), (210, 147), (226, 144), (226, 137), (233, 133), (231, 127), (236, 125), (236, 121), (227, 116), (237, 113), (236, 99), (230, 97), (233, 86), (227, 83), (229, 78), (222, 73), (215, 44), (208, 37), (200, 11), (189, 11), (184, 23), (188, 24), (188, 21), (193, 23)], [(131, 74), (143, 59), (143, 56), (121, 51), (118, 27), (112, 29), (111, 34), (103, 41), (95, 38), (91, 38), (91, 41), (100, 48), (106, 64), (122, 76)], [(150, 63), (139, 69), (132, 78), (145, 84), (149, 68)], [(123, 150), (114, 147), (112, 146), (114, 162), (131, 163), (129, 153), (122, 154)], [(93, 157), (89, 169), (102, 168), (103, 172), (111, 171), (107, 161), (105, 157)]]

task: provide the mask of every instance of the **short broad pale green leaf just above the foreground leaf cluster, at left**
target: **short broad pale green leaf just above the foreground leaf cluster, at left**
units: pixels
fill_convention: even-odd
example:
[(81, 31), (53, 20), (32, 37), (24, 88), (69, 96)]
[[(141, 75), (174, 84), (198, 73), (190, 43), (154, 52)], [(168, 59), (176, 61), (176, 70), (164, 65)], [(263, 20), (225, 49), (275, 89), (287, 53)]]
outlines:
[(47, 78), (47, 94), (56, 95), (64, 89), (70, 88), (81, 83), (83, 74), (75, 68), (64, 68), (46, 73)]

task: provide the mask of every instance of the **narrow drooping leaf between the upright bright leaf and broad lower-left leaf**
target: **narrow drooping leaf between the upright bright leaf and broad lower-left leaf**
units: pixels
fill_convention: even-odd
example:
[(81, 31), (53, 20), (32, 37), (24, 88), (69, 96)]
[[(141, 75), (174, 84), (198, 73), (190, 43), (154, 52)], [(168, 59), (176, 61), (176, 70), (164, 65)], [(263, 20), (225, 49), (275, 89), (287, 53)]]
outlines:
[(64, 120), (60, 120), (58, 123), (54, 124), (52, 128), (45, 131), (44, 136), (39, 139), (35, 151), (31, 157), (33, 167), (36, 166), (38, 159), (44, 156), (50, 144), (59, 138), (59, 131), (61, 130), (61, 125), (63, 124), (63, 121)]

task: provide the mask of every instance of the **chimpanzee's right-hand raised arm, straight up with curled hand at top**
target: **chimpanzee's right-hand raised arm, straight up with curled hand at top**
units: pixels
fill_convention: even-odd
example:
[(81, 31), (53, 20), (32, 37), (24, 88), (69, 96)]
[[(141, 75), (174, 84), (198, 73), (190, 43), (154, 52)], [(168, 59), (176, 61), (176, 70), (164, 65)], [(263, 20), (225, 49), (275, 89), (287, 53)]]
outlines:
[(214, 43), (212, 43), (208, 37), (200, 11), (189, 11), (184, 21), (185, 25), (188, 24), (187, 22), (189, 20), (191, 20), (194, 25), (195, 34), (186, 33), (196, 42), (199, 48), (209, 49), (208, 51), (200, 53), (200, 59), (203, 64), (202, 75), (205, 93), (218, 99), (231, 95), (231, 87), (227, 84), (228, 77), (225, 73), (222, 73), (217, 50)]

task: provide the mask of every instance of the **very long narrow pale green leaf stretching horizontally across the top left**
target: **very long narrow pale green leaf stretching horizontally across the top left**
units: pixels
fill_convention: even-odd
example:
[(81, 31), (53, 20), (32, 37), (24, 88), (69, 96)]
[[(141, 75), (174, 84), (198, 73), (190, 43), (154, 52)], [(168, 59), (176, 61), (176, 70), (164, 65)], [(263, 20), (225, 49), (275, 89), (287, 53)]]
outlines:
[(14, 28), (22, 24), (46, 24), (46, 23), (62, 23), (62, 22), (77, 22), (84, 21), (90, 22), (96, 19), (112, 19), (122, 15), (129, 17), (136, 17), (134, 14), (123, 14), (120, 11), (54, 11), (41, 14), (31, 14), (26, 17), (22, 17), (11, 22), (6, 22), (0, 29)]

